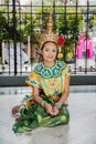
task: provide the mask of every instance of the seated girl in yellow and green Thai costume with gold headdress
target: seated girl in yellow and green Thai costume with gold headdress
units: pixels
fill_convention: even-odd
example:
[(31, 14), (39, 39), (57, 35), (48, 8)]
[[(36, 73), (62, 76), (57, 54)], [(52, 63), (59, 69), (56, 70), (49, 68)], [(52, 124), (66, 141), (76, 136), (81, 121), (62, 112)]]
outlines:
[[(57, 49), (64, 43), (64, 41), (61, 43), (60, 39), (61, 37), (53, 32), (51, 13), (47, 29), (40, 39), (43, 62), (34, 68), (25, 81), (32, 88), (32, 95), (22, 109), (18, 106), (20, 117), (13, 124), (14, 133), (70, 122), (66, 101), (70, 93), (71, 69), (65, 62), (56, 60)], [(13, 109), (12, 113), (18, 111)]]

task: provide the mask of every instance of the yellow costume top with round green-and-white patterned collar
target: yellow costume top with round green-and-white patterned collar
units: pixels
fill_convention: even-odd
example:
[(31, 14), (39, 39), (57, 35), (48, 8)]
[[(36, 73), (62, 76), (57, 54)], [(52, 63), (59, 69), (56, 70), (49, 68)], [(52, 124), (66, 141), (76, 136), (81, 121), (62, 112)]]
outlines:
[(63, 61), (56, 61), (52, 68), (44, 66), (43, 62), (38, 64), (32, 74), (25, 81), (30, 86), (38, 86), (49, 97), (62, 95), (65, 88), (65, 79), (71, 75), (71, 69)]

